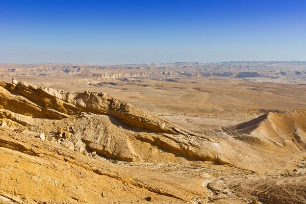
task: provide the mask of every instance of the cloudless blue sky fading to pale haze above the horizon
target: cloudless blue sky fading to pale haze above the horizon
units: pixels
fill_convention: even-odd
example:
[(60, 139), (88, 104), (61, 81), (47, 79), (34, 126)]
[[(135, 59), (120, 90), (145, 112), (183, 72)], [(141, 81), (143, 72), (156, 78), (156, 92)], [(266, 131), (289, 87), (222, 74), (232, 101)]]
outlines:
[(306, 0), (0, 0), (0, 63), (306, 61)]

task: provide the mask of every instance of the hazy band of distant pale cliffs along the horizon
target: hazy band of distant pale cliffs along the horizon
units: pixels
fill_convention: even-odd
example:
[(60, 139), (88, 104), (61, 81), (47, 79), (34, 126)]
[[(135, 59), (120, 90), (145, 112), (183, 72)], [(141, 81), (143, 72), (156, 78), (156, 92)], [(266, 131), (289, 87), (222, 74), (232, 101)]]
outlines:
[[(306, 63), (299, 61), (271, 62), (175, 62), (123, 65), (86, 65), (71, 63), (0, 64), (1, 77), (39, 75), (67, 75), (85, 78), (160, 78), (160, 77), (228, 77), (282, 80), (279, 74), (287, 73), (290, 79), (304, 79)], [(283, 74), (283, 78), (284, 74)], [(284, 80), (287, 80), (286, 78)]]

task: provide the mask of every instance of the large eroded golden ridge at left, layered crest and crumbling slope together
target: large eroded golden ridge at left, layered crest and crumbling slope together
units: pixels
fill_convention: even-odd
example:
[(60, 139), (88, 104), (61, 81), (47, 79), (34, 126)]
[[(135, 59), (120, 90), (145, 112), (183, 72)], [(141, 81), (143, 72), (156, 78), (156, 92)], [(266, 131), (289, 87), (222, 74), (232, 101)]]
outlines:
[(182, 130), (106, 93), (65, 92), (13, 80), (0, 83), (0, 96), (1, 118), (59, 144), (69, 146), (69, 141), (78, 151), (123, 161), (230, 164), (221, 141)]

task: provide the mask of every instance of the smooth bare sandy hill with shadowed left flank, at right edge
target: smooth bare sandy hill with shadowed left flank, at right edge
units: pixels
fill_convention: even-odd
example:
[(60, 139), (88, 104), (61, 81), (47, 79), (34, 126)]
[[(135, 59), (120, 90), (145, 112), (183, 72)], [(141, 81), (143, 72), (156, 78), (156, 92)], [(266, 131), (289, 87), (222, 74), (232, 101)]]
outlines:
[(267, 113), (251, 121), (223, 127), (235, 139), (251, 144), (274, 144), (294, 152), (306, 150), (306, 110)]

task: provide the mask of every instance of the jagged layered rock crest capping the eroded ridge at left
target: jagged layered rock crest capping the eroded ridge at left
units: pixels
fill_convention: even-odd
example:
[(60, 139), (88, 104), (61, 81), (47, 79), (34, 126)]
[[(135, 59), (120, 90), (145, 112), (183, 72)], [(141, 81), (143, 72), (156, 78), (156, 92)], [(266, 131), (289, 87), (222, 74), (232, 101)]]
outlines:
[(106, 93), (65, 92), (24, 82), (0, 83), (0, 108), (32, 117), (63, 119), (81, 112), (111, 115), (123, 123), (159, 133), (184, 133), (179, 127)]

